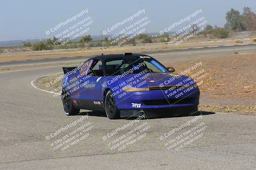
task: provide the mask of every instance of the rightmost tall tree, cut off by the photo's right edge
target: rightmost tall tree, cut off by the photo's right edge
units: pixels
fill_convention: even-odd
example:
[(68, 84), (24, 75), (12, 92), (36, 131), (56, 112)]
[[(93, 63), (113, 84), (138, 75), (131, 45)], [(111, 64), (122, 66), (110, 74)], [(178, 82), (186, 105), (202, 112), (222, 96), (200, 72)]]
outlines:
[(256, 14), (253, 13), (251, 8), (244, 7), (243, 9), (243, 20), (246, 25), (247, 31), (256, 31)]

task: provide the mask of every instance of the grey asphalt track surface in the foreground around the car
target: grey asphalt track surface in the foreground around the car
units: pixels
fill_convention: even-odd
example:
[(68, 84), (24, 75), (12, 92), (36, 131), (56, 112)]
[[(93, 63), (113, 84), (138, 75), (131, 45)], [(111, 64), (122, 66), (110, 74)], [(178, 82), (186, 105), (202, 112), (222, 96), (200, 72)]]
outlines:
[[(31, 80), (60, 71), (61, 67), (49, 67), (0, 73), (0, 169), (256, 169), (256, 117), (233, 113), (203, 111), (202, 118), (140, 120), (106, 141), (102, 137), (132, 120), (109, 120), (102, 113), (89, 113), (84, 123), (93, 126), (90, 136), (67, 150), (54, 151), (45, 138), (87, 114), (67, 117), (59, 97), (31, 86)], [(198, 120), (163, 141), (159, 139), (193, 118)], [(202, 123), (205, 129), (200, 138), (178, 151), (166, 148), (170, 139), (186, 137), (184, 132)], [(109, 148), (113, 139), (141, 124), (149, 125), (145, 137), (124, 150)]]

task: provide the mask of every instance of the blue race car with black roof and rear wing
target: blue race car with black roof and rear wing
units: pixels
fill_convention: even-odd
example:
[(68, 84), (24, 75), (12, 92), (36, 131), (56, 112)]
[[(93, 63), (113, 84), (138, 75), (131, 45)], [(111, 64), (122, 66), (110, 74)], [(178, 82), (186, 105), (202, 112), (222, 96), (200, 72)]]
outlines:
[(200, 92), (195, 81), (174, 71), (148, 55), (132, 53), (99, 55), (78, 67), (63, 67), (65, 113), (106, 111), (113, 119), (120, 118), (120, 111), (197, 111)]

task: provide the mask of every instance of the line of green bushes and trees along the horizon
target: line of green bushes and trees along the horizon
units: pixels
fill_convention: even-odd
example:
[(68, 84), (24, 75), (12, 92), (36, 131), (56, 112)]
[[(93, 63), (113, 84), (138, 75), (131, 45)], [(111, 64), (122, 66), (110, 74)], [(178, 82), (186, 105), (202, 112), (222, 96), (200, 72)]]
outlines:
[[(196, 25), (193, 27), (196, 28)], [(231, 8), (226, 13), (226, 24), (224, 27), (217, 27), (212, 25), (206, 25), (204, 31), (200, 32), (198, 36), (209, 36), (211, 38), (228, 38), (230, 31), (256, 31), (256, 14), (249, 7), (243, 8), (243, 13)], [(136, 43), (153, 43), (158, 38), (159, 41), (164, 42), (168, 38), (168, 34), (164, 33), (162, 36), (152, 38), (148, 34), (140, 34), (131, 39), (126, 44), (136, 45)], [(164, 40), (165, 39), (165, 40)], [(89, 35), (82, 36), (78, 41), (71, 41), (65, 45), (61, 45), (61, 42), (57, 38), (53, 37), (45, 41), (39, 41), (31, 44), (28, 41), (24, 42), (25, 47), (31, 48), (31, 50), (52, 50), (52, 49), (67, 49), (67, 48), (84, 48), (93, 46), (110, 46), (113, 45), (108, 41), (108, 38), (102, 39), (102, 41), (93, 41)]]

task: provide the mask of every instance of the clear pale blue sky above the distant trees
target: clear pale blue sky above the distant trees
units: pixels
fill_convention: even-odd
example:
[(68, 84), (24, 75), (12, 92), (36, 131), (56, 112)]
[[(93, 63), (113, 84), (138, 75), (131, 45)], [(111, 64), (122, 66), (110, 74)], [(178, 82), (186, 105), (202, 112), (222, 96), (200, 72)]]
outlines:
[(256, 11), (255, 0), (215, 1), (66, 1), (66, 0), (1, 0), (0, 41), (47, 38), (45, 31), (59, 22), (88, 9), (93, 25), (88, 34), (99, 35), (104, 29), (138, 10), (145, 9), (150, 19), (148, 32), (159, 32), (172, 22), (202, 8), (209, 24), (223, 26), (230, 8), (242, 11), (249, 6)]

